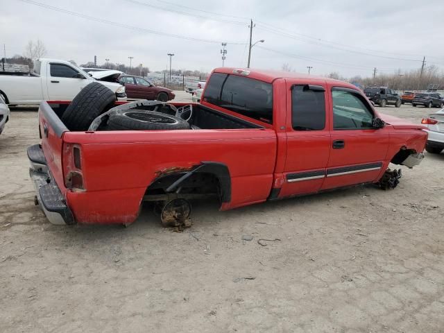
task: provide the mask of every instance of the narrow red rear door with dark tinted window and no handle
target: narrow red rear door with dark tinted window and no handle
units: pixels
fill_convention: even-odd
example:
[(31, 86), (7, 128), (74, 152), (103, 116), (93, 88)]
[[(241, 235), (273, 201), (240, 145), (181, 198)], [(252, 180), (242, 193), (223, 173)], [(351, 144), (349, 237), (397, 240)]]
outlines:
[(324, 81), (287, 79), (287, 158), (279, 197), (318, 191), (330, 154)]

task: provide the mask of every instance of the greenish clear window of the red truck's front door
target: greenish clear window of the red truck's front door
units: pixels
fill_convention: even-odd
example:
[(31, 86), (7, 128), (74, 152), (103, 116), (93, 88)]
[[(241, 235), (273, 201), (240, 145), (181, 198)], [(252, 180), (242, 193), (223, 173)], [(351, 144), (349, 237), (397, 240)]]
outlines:
[(373, 128), (373, 112), (358, 92), (332, 89), (334, 130)]

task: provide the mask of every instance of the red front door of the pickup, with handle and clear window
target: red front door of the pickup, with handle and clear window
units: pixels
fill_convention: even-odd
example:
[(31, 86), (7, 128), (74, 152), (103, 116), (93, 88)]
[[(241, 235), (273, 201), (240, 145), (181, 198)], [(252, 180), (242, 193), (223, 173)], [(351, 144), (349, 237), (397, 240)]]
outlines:
[(387, 128), (373, 128), (375, 114), (355, 89), (330, 87), (330, 157), (322, 189), (373, 182), (384, 167)]

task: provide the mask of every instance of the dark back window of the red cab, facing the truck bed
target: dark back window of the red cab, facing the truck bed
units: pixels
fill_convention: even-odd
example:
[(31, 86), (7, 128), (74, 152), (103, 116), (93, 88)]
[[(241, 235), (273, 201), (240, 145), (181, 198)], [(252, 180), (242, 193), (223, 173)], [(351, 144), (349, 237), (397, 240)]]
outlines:
[(273, 123), (273, 85), (244, 76), (214, 73), (205, 101), (246, 117)]

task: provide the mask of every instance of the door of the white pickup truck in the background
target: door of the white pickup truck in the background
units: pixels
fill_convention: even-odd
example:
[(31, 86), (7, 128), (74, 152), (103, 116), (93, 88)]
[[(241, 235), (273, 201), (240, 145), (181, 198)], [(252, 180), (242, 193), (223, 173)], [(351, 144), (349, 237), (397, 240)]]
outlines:
[(48, 96), (53, 101), (71, 101), (91, 82), (69, 65), (50, 62), (47, 71)]

